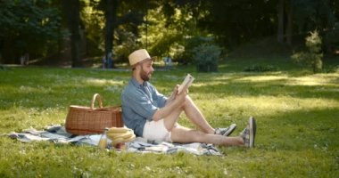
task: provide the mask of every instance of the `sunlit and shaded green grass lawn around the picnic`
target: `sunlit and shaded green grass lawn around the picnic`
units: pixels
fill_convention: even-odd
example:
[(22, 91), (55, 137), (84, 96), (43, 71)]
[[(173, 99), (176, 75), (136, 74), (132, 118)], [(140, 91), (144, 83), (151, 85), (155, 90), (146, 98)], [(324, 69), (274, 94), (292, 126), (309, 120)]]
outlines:
[[(249, 64), (271, 72), (243, 72)], [(238, 125), (257, 118), (256, 147), (220, 148), (224, 157), (135, 154), (95, 147), (22, 143), (0, 137), (0, 177), (338, 177), (339, 60), (312, 74), (285, 59), (230, 60), (219, 73), (194, 67), (156, 71), (152, 83), (169, 94), (186, 73), (196, 79), (190, 95), (211, 125)], [(327, 64), (327, 62), (325, 62)], [(120, 104), (129, 71), (100, 69), (0, 69), (0, 133), (63, 124), (68, 106)], [(191, 125), (185, 116), (179, 121)]]

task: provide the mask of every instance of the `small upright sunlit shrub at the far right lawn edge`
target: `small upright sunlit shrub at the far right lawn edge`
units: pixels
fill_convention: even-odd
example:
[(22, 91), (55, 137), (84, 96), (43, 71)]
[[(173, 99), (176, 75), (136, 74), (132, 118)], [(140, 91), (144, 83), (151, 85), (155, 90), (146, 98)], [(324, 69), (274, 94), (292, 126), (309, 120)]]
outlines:
[(321, 37), (318, 35), (318, 31), (310, 32), (310, 36), (305, 38), (306, 40), (306, 52), (294, 53), (292, 55), (292, 60), (295, 62), (304, 63), (312, 67), (313, 72), (317, 73), (321, 71), (323, 67), (322, 58), (323, 53), (321, 53)]

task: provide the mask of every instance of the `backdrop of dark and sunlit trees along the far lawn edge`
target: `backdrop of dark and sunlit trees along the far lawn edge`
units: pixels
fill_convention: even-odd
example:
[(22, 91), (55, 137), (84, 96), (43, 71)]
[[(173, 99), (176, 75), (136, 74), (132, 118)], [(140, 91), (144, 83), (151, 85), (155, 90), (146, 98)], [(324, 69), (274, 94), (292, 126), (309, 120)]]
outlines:
[(0, 60), (18, 63), (23, 53), (46, 58), (70, 46), (73, 66), (108, 53), (127, 62), (138, 48), (189, 63), (203, 38), (213, 38), (225, 52), (266, 36), (293, 46), (314, 29), (323, 36), (323, 49), (333, 53), (339, 48), (338, 5), (337, 0), (2, 0)]

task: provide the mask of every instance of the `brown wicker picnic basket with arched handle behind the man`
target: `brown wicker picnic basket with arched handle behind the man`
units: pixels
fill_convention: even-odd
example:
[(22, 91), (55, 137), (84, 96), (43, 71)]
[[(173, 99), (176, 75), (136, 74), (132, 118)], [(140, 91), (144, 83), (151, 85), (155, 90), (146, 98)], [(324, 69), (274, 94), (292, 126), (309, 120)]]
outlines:
[[(95, 100), (99, 108), (95, 109)], [(103, 101), (98, 93), (95, 93), (91, 101), (91, 107), (70, 105), (66, 117), (66, 131), (70, 134), (102, 134), (105, 127), (122, 127), (120, 106), (103, 108)]]

